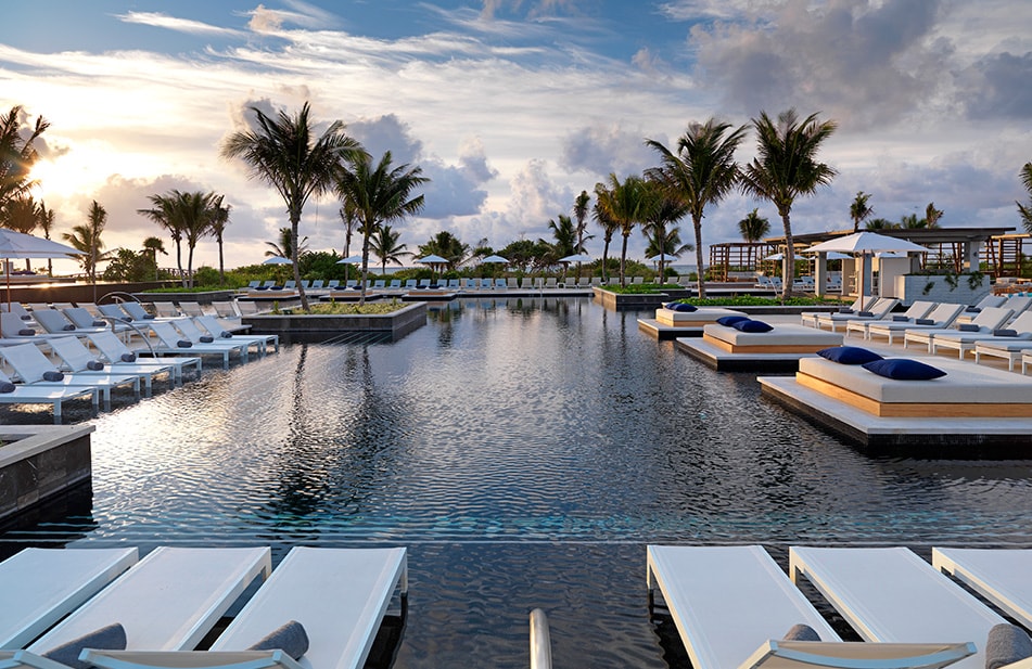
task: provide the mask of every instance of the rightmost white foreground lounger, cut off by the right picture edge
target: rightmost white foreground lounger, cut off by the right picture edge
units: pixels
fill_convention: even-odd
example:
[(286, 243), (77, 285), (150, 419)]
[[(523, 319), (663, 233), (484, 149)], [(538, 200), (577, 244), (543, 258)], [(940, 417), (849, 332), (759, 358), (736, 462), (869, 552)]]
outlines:
[(932, 549), (932, 566), (1032, 628), (1032, 551)]

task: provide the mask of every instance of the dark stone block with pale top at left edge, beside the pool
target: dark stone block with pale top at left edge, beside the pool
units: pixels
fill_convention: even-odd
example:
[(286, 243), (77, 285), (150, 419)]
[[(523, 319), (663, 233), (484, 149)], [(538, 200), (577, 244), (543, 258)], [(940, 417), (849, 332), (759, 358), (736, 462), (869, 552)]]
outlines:
[(93, 429), (92, 425), (4, 427), (0, 432), (0, 520), (89, 480)]

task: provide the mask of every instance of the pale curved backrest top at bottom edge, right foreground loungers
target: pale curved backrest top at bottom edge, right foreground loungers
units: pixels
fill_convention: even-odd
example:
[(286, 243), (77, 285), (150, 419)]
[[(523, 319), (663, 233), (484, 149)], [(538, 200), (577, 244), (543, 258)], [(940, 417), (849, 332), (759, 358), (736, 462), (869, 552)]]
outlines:
[(937, 669), (974, 655), (973, 643), (874, 643), (867, 641), (767, 641), (739, 669), (764, 662), (779, 669)]

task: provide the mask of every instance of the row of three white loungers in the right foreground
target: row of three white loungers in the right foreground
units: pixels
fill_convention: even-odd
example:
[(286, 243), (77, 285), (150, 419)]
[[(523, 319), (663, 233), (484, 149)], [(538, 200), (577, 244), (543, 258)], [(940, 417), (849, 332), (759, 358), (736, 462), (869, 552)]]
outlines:
[[(934, 549), (929, 565), (900, 548), (793, 546), (786, 574), (755, 545), (648, 546), (650, 610), (659, 588), (695, 669), (1032, 666), (1032, 646), (1007, 643), (1027, 634), (940, 569), (1032, 629), (1032, 551)], [(800, 579), (864, 641), (842, 642)]]

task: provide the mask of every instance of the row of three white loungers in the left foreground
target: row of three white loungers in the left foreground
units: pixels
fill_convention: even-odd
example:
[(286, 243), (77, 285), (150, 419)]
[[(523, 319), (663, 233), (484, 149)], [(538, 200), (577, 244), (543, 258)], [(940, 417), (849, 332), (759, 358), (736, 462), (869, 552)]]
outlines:
[[(276, 569), (268, 548), (26, 549), (0, 563), (0, 591), (7, 669), (80, 654), (111, 669), (358, 669), (396, 591), (405, 616), (408, 563), (403, 548), (294, 548)], [(192, 652), (245, 592), (211, 651)]]

